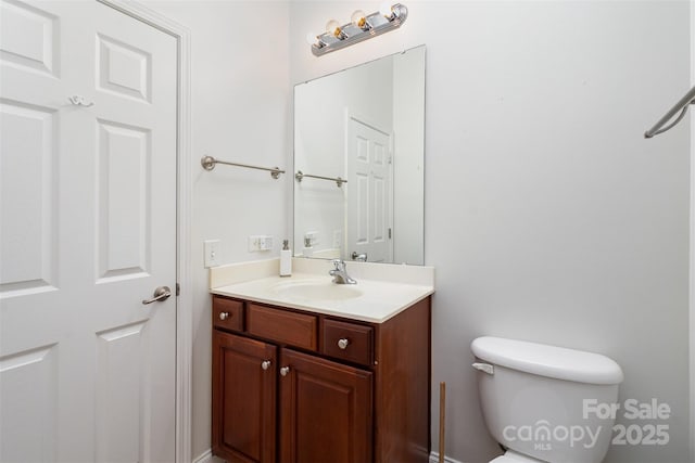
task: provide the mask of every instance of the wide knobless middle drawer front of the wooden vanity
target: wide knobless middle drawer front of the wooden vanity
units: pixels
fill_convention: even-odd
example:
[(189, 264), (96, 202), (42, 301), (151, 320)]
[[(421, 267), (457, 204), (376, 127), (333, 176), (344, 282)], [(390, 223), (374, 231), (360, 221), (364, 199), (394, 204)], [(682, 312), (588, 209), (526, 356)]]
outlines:
[(247, 331), (277, 343), (316, 350), (317, 320), (314, 316), (249, 304)]

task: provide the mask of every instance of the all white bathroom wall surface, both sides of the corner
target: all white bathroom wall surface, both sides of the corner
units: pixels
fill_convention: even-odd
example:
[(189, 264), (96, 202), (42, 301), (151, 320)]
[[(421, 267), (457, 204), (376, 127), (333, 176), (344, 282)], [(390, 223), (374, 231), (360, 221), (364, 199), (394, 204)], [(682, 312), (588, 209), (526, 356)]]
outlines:
[[(642, 132), (688, 88), (688, 2), (406, 3), (401, 29), (317, 59), (308, 30), (379, 2), (146, 2), (192, 33), (193, 456), (210, 447), (202, 241), (222, 239), (225, 262), (276, 257), (247, 253), (245, 239), (291, 232), (293, 183), (205, 172), (199, 156), (289, 167), (291, 85), (426, 43), (432, 383), (447, 384), (447, 454), (496, 452), (468, 366), (470, 340), (492, 334), (615, 358), (622, 398), (656, 397), (673, 417), (668, 446), (607, 461), (687, 461), (688, 130)], [(258, 39), (258, 17), (274, 38)]]

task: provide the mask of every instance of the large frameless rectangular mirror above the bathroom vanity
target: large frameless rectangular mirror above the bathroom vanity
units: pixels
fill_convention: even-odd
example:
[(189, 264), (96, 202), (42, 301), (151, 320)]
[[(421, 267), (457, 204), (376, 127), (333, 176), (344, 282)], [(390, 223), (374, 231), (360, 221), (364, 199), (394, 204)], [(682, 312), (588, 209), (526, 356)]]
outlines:
[(425, 263), (425, 46), (294, 87), (294, 256)]

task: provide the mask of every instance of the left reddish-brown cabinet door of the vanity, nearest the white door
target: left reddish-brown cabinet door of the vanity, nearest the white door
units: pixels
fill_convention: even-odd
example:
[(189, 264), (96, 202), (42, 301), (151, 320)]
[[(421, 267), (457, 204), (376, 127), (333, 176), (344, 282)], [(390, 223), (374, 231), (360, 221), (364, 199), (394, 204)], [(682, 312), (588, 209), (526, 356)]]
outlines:
[(212, 447), (229, 462), (275, 462), (276, 349), (213, 331)]

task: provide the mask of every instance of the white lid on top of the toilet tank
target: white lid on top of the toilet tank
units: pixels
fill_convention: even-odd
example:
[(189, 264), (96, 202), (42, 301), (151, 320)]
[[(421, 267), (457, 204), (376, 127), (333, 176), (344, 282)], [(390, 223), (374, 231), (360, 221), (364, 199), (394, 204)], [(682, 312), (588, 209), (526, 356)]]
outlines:
[(470, 348), (480, 360), (513, 370), (589, 384), (620, 384), (620, 365), (601, 353), (565, 347), (483, 336)]

